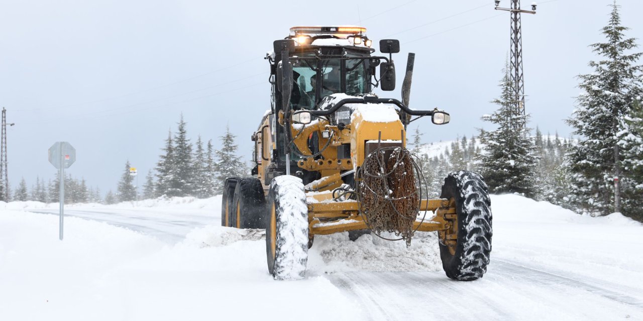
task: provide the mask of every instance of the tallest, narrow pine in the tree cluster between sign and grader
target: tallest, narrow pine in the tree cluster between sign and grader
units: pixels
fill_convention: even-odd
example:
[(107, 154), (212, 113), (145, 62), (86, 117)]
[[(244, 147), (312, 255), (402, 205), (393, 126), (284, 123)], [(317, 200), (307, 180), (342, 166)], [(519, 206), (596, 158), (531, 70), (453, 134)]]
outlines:
[(168, 196), (192, 195), (194, 186), (194, 168), (192, 166), (192, 144), (187, 137), (186, 123), (181, 114), (179, 127), (174, 135), (174, 163)]

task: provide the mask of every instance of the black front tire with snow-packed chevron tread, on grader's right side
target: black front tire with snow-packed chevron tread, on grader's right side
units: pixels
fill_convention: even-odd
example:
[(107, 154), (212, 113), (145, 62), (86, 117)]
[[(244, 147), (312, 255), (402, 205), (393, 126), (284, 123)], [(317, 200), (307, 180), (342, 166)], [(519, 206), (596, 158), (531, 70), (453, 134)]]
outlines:
[(440, 241), (440, 258), (446, 275), (454, 280), (473, 281), (487, 272), (491, 254), (491, 200), (487, 184), (472, 171), (450, 173), (444, 179), (441, 198), (455, 198), (457, 245), (454, 250)]

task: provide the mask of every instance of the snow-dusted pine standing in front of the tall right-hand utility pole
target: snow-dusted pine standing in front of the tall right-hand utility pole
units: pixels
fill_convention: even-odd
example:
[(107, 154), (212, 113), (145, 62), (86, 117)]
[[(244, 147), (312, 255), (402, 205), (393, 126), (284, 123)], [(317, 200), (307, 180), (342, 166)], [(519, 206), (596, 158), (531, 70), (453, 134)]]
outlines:
[(538, 156), (529, 137), (529, 128), (522, 126), (529, 116), (516, 115), (512, 110), (518, 98), (512, 94), (508, 65), (503, 73), (502, 94), (492, 101), (499, 108), (491, 115), (482, 116), (484, 121), (498, 125), (498, 128), (480, 130), (484, 150), (478, 156), (479, 168), (492, 193), (519, 193), (535, 198), (538, 196)]

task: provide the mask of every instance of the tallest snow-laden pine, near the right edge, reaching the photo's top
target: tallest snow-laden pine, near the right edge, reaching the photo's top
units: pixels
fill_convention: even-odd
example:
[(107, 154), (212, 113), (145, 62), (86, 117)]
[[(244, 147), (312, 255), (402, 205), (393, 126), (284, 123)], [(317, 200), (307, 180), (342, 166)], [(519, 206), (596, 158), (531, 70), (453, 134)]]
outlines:
[[(619, 6), (614, 2), (611, 7), (610, 21), (602, 28), (606, 42), (590, 46), (601, 60), (589, 63), (592, 73), (578, 76), (582, 93), (567, 123), (581, 138), (570, 146), (566, 165), (573, 173), (576, 197), (570, 205), (576, 211), (631, 215), (631, 200), (621, 196), (634, 182), (624, 171), (626, 152), (619, 146), (619, 134), (628, 132), (623, 120), (640, 93), (642, 69), (636, 63), (641, 53), (629, 53), (637, 44), (624, 35), (628, 28), (620, 24)], [(638, 205), (635, 211), (640, 211)]]

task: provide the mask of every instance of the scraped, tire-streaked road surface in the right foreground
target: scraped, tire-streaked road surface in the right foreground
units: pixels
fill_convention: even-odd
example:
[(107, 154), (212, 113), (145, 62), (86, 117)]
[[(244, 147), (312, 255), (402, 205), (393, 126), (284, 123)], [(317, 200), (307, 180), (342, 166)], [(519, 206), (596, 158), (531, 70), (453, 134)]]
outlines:
[[(493, 260), (478, 281), (442, 272), (341, 272), (324, 276), (368, 320), (606, 320), (643, 317), (641, 290)], [(612, 288), (613, 286), (613, 288)]]

